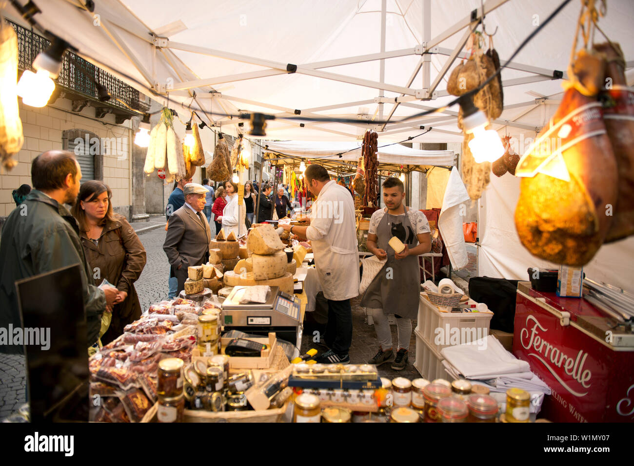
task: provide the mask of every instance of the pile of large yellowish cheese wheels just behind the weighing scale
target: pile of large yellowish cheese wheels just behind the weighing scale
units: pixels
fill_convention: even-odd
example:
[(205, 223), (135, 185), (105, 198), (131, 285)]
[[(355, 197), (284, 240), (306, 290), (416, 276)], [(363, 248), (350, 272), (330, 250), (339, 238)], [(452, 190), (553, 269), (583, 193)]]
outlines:
[(293, 294), (292, 264), (283, 251), (284, 244), (271, 225), (251, 230), (247, 237), (250, 256), (240, 259), (233, 272), (224, 274), (226, 286), (279, 286), (280, 291)]

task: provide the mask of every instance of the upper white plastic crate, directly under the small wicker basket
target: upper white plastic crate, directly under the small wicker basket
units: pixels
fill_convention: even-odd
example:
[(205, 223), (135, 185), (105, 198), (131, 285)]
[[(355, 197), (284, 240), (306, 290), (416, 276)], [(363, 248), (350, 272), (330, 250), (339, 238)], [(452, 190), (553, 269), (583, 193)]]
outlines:
[[(469, 304), (477, 304), (469, 299)], [(475, 339), (486, 337), (489, 334), (493, 312), (440, 312), (437, 306), (432, 305), (426, 296), (420, 295), (418, 303), (418, 322), (416, 331), (427, 343), (440, 354), (441, 349), (454, 344), (472, 343)], [(451, 341), (452, 333), (457, 328), (460, 331), (458, 341)], [(437, 331), (437, 329), (440, 329)], [(474, 332), (475, 331), (475, 332)], [(438, 337), (440, 344), (436, 344)], [(455, 337), (454, 337), (455, 338)]]

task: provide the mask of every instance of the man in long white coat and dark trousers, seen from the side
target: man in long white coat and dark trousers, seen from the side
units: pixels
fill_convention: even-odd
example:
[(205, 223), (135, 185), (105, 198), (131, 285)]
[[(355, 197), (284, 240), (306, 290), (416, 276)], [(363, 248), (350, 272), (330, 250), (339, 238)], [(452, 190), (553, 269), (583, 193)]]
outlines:
[(292, 234), (311, 241), (323, 295), (328, 299), (328, 324), (324, 336), (328, 351), (319, 363), (350, 362), (348, 351), (353, 338), (350, 299), (359, 294), (359, 253), (357, 249), (354, 201), (321, 165), (306, 168), (304, 179), (317, 196), (308, 227), (282, 225)]

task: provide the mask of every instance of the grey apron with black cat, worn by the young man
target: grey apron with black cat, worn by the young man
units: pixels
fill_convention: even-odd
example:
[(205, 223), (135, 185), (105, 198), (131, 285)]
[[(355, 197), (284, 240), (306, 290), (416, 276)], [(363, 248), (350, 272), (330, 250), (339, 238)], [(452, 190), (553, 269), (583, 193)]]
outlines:
[(418, 237), (407, 213), (385, 213), (377, 227), (377, 247), (387, 252), (387, 261), (363, 294), (361, 306), (383, 309), (386, 315), (415, 319), (420, 299), (418, 256), (396, 259), (394, 249), (388, 244), (392, 236), (398, 237), (410, 249), (418, 246)]

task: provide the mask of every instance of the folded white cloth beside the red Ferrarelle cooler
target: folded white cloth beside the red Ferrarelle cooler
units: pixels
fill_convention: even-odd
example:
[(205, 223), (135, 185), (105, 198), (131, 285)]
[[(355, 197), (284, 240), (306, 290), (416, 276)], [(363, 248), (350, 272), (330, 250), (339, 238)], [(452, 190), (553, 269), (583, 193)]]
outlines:
[(458, 344), (441, 349), (443, 357), (465, 379), (495, 379), (505, 374), (530, 373), (526, 361), (515, 358), (494, 336), (470, 344)]

